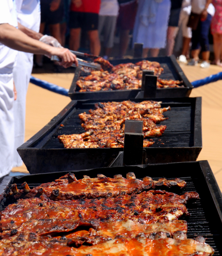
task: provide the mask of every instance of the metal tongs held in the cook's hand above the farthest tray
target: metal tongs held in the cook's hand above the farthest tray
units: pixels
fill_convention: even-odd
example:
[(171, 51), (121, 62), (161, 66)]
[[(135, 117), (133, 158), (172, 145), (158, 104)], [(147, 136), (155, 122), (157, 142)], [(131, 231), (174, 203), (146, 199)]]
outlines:
[[(91, 58), (98, 58), (99, 56), (93, 55), (93, 54), (88, 54), (88, 53), (83, 53), (83, 52), (79, 52), (79, 51), (74, 51), (74, 50), (70, 50), (73, 54), (78, 55), (78, 56), (83, 56), (83, 57), (91, 57)], [(77, 58), (78, 60), (78, 65), (80, 67), (90, 67), (92, 69), (95, 70), (100, 70), (101, 69), (101, 65), (95, 62), (89, 62), (89, 61), (84, 61), (82, 59)], [(51, 61), (61, 61), (60, 58), (58, 56), (51, 56)], [(75, 64), (72, 64), (72, 67), (76, 67)]]

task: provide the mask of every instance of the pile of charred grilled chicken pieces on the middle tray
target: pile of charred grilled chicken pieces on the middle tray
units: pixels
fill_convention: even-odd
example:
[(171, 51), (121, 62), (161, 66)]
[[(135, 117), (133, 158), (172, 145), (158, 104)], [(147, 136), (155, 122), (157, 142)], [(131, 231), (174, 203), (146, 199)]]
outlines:
[[(86, 133), (60, 135), (58, 139), (65, 148), (123, 148), (126, 120), (143, 121), (144, 137), (160, 137), (167, 126), (157, 126), (156, 123), (168, 119), (162, 114), (167, 110), (170, 106), (161, 108), (161, 102), (152, 100), (140, 103), (130, 100), (99, 102), (94, 105), (94, 110), (89, 110), (89, 114), (79, 114)], [(144, 139), (144, 147), (153, 144)]]

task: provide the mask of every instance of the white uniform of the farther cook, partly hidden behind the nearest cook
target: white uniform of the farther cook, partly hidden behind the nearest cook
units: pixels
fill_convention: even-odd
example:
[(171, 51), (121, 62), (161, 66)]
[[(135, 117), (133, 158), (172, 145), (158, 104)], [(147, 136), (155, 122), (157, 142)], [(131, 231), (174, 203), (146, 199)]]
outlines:
[[(17, 19), (23, 26), (39, 32), (40, 0), (16, 0)], [(18, 52), (17, 64), (14, 67), (14, 82), (17, 89), (17, 100), (14, 102), (15, 144), (13, 167), (21, 166), (22, 159), (17, 148), (24, 143), (26, 94), (33, 68), (33, 54)]]

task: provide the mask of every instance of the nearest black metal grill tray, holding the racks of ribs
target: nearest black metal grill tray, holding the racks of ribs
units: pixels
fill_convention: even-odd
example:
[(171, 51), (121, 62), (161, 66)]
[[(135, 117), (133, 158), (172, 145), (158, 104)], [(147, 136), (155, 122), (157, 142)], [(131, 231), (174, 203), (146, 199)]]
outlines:
[[(222, 194), (208, 161), (113, 167), (105, 169), (99, 168), (74, 173), (76, 177), (80, 179), (83, 178), (83, 174), (94, 178), (98, 173), (102, 173), (107, 177), (113, 177), (114, 174), (121, 173), (123, 177), (126, 177), (126, 173), (128, 172), (134, 172), (137, 178), (143, 178), (148, 175), (154, 180), (163, 177), (167, 179), (184, 179), (187, 182), (187, 187), (184, 189), (183, 193), (196, 191), (200, 195), (200, 200), (187, 205), (191, 215), (189, 218), (185, 218), (185, 220), (188, 221), (188, 238), (195, 238), (198, 235), (204, 236), (206, 238), (206, 243), (214, 248), (214, 256), (222, 256)], [(29, 187), (33, 188), (33, 186), (38, 186), (41, 183), (51, 182), (66, 173), (67, 172), (45, 173), (4, 178), (0, 184), (1, 209), (4, 209), (11, 203), (11, 201), (6, 200), (5, 198), (5, 194), (11, 184), (16, 183), (19, 188), (19, 186), (26, 181)]]

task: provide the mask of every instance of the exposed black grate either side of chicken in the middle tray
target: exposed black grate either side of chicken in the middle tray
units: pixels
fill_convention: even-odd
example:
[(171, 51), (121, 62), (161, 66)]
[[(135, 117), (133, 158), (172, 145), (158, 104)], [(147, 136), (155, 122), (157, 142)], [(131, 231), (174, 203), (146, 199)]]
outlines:
[[(165, 106), (166, 104), (162, 104)], [(155, 142), (152, 147), (192, 147), (194, 146), (194, 110), (189, 106), (173, 106), (170, 104), (171, 111), (164, 113), (168, 120), (161, 122), (159, 125), (167, 125), (164, 134), (159, 138), (151, 138)], [(167, 105), (166, 105), (167, 106)], [(58, 136), (62, 134), (81, 134), (85, 130), (81, 127), (78, 115), (82, 112), (88, 113), (88, 109), (77, 109), (65, 119), (62, 124), (64, 127), (56, 128), (55, 132), (51, 135), (50, 139), (42, 146), (43, 149), (51, 148), (64, 148), (58, 141)], [(149, 138), (148, 138), (149, 139)], [(164, 144), (162, 144), (164, 143)]]

